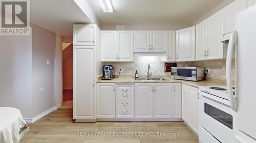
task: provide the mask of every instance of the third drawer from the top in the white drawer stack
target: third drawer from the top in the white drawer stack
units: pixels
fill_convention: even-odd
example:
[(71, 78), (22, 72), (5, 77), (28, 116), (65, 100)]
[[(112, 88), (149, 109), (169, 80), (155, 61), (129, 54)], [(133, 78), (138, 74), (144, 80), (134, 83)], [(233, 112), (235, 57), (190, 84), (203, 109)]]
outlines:
[(134, 108), (134, 98), (117, 98), (116, 108)]

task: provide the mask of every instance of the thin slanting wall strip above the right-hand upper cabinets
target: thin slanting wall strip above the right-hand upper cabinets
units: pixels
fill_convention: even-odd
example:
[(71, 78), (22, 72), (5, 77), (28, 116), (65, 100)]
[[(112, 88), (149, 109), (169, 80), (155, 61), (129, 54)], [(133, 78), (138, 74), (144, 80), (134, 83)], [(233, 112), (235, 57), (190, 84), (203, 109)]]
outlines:
[(209, 12), (207, 12), (206, 14), (204, 14), (202, 17), (200, 17), (199, 19), (197, 19), (196, 21), (193, 22), (193, 25), (197, 25), (198, 23), (202, 22), (204, 19), (208, 18), (209, 16), (211, 16), (212, 14), (215, 14), (216, 12), (218, 12), (219, 10), (225, 8), (227, 5), (231, 4), (232, 2), (234, 2), (235, 0), (225, 0), (223, 1), (221, 4), (219, 4), (218, 6), (216, 6), (215, 8), (211, 9)]

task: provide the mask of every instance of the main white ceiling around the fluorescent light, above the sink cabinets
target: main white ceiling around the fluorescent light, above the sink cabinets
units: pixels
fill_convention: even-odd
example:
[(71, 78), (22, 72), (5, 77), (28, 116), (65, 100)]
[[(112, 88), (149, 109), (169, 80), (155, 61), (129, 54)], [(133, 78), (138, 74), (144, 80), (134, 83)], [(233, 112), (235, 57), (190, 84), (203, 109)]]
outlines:
[(103, 13), (98, 0), (87, 0), (101, 24), (193, 23), (224, 0), (111, 0)]

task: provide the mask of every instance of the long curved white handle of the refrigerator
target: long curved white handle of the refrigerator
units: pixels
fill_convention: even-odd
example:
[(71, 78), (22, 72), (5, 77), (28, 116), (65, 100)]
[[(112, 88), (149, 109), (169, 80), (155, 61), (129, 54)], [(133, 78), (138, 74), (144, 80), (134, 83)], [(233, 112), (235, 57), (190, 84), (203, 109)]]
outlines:
[(227, 76), (227, 92), (229, 96), (229, 102), (230, 102), (231, 108), (234, 111), (236, 111), (238, 108), (238, 104), (237, 104), (238, 101), (237, 101), (237, 96), (233, 95), (233, 91), (232, 91), (231, 65), (232, 65), (232, 52), (237, 42), (238, 42), (238, 32), (233, 31), (228, 42), (226, 76)]

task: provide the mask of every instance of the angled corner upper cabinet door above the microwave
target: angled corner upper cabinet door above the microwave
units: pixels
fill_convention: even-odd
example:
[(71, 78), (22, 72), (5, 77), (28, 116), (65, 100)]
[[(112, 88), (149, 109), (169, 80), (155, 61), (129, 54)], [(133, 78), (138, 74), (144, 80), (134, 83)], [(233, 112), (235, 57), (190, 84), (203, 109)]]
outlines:
[(195, 26), (176, 32), (176, 61), (196, 61)]

